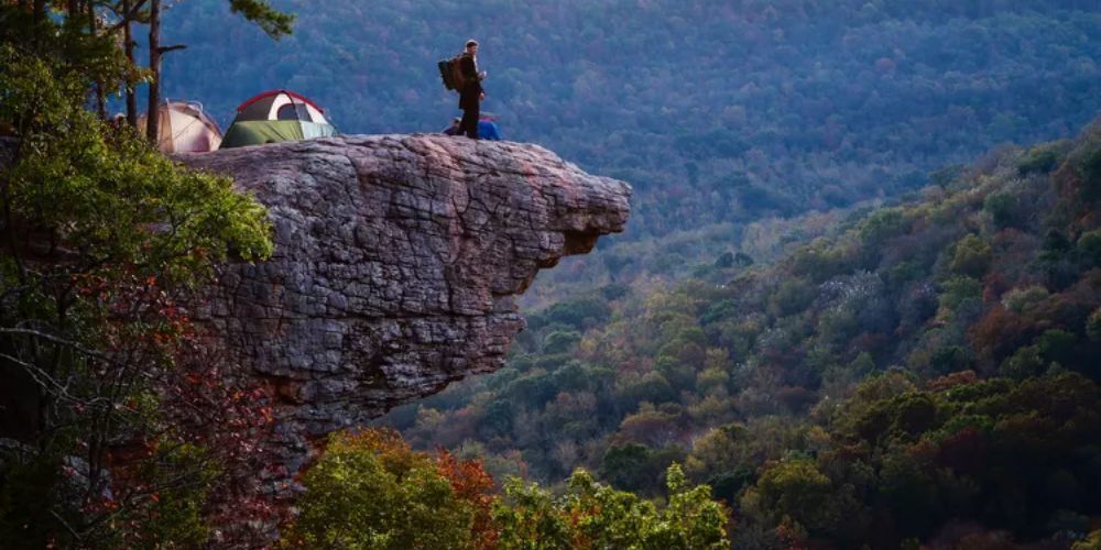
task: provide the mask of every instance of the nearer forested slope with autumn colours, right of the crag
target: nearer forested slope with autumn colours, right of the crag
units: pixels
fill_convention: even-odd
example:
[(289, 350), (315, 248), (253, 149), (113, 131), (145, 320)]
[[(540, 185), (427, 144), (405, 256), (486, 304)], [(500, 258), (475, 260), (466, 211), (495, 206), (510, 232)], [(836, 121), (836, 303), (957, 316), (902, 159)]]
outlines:
[(1099, 201), (1101, 123), (1003, 148), (775, 264), (549, 307), (384, 424), (499, 476), (653, 495), (680, 462), (737, 548), (1066, 544), (1101, 513)]

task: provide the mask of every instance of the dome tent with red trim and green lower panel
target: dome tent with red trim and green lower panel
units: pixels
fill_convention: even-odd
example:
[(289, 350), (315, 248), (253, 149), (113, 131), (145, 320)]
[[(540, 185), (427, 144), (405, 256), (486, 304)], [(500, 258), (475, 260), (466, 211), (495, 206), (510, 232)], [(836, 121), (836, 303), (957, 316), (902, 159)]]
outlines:
[(226, 131), (221, 146), (308, 140), (336, 132), (317, 103), (293, 91), (270, 90), (237, 108), (237, 118)]

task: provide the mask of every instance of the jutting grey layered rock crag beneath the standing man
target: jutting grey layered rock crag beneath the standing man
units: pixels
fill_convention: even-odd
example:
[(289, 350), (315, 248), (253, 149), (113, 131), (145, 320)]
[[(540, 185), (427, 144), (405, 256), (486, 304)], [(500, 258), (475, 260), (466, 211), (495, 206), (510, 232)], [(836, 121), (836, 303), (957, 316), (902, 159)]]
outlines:
[(499, 369), (512, 296), (623, 229), (631, 188), (530, 144), (372, 135), (181, 155), (264, 204), (275, 253), (230, 264), (195, 319), (280, 396), (284, 475), (307, 441)]

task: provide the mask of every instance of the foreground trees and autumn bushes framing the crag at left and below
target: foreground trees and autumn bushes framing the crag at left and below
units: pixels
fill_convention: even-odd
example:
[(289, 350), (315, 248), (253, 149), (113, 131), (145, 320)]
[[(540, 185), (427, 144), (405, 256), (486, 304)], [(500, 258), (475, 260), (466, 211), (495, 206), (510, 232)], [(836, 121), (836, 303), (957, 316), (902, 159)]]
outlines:
[[(273, 36), (292, 21), (228, 4)], [(118, 38), (159, 1), (129, 6), (0, 2), (0, 548), (729, 547), (678, 465), (661, 499), (584, 471), (499, 495), (480, 461), (384, 430), (318, 441), (275, 494), (276, 397), (188, 307), (273, 254), (271, 222), (107, 118), (108, 90), (157, 75)]]

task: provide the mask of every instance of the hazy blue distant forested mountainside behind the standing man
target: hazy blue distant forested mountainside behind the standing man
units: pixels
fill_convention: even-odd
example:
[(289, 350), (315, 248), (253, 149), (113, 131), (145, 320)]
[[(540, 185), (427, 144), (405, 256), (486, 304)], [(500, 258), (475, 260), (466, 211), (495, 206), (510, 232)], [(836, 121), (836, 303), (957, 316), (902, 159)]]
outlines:
[(483, 110), (636, 187), (629, 234), (894, 196), (1003, 142), (1070, 135), (1101, 109), (1090, 0), (274, 2), (271, 44), (226, 2), (165, 15), (164, 90), (225, 125), (288, 87), (350, 133), (438, 131), (436, 61), (470, 36)]

